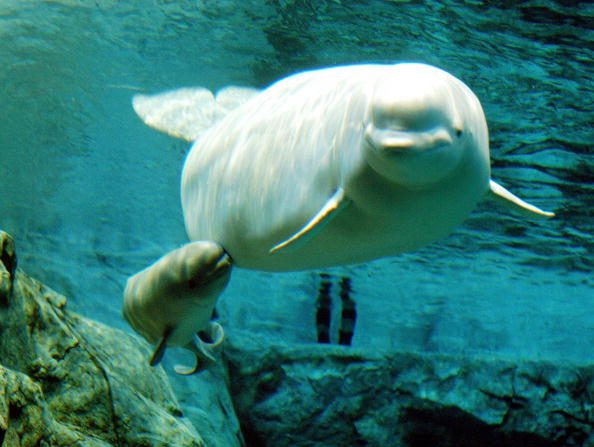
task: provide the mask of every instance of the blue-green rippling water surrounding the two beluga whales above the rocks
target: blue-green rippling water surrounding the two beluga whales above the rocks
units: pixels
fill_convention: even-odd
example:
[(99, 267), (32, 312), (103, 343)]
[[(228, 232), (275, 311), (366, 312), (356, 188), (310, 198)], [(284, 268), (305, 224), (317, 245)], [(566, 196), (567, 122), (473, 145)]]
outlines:
[[(557, 217), (483, 203), (439, 243), (330, 271), (353, 280), (353, 344), (591, 363), (592, 23), (591, 2), (566, 0), (3, 0), (0, 228), (71, 308), (129, 330), (126, 277), (186, 241), (187, 144), (146, 127), (133, 94), (427, 62), (481, 99), (493, 177)], [(314, 343), (317, 273), (236, 270), (219, 305), (227, 332)]]

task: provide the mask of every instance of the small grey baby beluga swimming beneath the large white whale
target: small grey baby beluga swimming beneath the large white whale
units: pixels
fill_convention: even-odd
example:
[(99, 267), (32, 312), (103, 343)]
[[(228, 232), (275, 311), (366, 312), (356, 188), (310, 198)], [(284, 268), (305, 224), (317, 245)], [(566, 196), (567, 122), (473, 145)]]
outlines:
[(175, 367), (179, 374), (193, 374), (215, 361), (212, 352), (224, 333), (210, 318), (230, 276), (231, 259), (225, 250), (215, 242), (197, 241), (128, 279), (124, 317), (146, 340), (157, 343), (151, 365), (161, 361), (167, 344), (196, 355), (193, 368)]

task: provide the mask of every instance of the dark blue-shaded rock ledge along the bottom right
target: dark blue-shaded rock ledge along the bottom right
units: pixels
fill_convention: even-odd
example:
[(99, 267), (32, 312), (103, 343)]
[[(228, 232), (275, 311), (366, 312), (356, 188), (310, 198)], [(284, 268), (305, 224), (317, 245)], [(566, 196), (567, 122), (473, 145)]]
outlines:
[(594, 366), (253, 336), (228, 340), (226, 356), (248, 445), (594, 446)]

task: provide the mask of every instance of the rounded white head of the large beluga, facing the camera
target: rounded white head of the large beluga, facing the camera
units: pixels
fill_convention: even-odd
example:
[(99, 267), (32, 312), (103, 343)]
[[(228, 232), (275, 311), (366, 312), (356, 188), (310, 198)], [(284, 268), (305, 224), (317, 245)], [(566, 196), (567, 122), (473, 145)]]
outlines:
[[(434, 67), (401, 68), (398, 79), (381, 77), (373, 90), (365, 127), (368, 159), (378, 173), (403, 186), (431, 187), (477, 146), (462, 131), (471, 118), (464, 112), (475, 98)], [(480, 116), (472, 117), (471, 123)], [(488, 170), (487, 158), (481, 164)]]

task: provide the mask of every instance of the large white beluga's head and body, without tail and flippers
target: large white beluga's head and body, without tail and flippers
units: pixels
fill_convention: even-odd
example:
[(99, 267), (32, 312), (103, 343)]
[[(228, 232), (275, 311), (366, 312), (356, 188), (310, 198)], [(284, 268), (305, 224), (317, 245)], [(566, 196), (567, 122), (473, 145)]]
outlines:
[[(485, 117), (466, 85), (422, 64), (358, 65), (291, 76), (233, 110), (191, 148), (181, 195), (190, 239), (217, 241), (241, 267), (301, 270), (447, 235), (489, 174)], [(270, 253), (339, 189), (348, 206)]]

